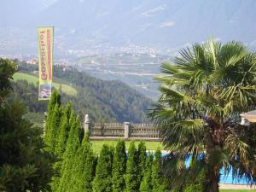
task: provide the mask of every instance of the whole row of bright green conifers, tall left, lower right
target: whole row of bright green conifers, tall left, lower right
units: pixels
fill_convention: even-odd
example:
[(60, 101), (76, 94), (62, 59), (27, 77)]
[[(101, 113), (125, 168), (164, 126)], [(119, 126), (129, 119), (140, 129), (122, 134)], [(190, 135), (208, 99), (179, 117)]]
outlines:
[[(56, 108), (60, 116), (56, 115)], [(154, 158), (153, 154), (147, 155), (144, 142), (140, 142), (138, 148), (131, 142), (126, 154), (125, 141), (119, 140), (115, 148), (103, 145), (101, 153), (96, 156), (90, 145), (89, 133), (84, 134), (70, 104), (62, 107), (56, 91), (52, 94), (48, 109), (44, 133), (44, 141), (48, 144), (46, 149), (61, 159), (54, 166), (59, 175), (53, 177), (53, 191), (131, 192), (165, 189), (160, 174), (160, 150), (156, 151)], [(55, 118), (60, 119), (58, 124)]]

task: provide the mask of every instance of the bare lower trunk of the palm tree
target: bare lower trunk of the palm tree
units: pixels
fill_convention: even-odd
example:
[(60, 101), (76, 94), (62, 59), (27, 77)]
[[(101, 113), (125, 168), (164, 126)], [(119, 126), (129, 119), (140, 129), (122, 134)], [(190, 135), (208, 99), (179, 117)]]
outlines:
[(205, 192), (218, 192), (218, 182), (220, 177), (219, 169), (220, 167), (214, 166), (206, 173)]

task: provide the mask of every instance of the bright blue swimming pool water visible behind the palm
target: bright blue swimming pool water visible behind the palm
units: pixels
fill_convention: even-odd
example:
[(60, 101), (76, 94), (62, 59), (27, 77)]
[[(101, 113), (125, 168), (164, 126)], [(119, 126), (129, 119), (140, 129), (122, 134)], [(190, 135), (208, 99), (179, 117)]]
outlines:
[[(162, 152), (162, 156), (165, 156), (166, 154), (167, 154), (166, 152)], [(191, 159), (188, 159), (185, 162), (187, 167), (189, 167), (190, 160)], [(220, 170), (220, 174), (221, 174), (221, 177), (220, 177), (219, 183), (247, 184), (245, 177), (241, 177), (241, 178), (235, 177), (233, 179), (233, 177), (232, 177), (232, 168), (230, 169), (230, 172), (229, 172), (229, 174), (227, 176), (224, 176), (224, 168), (222, 168)]]

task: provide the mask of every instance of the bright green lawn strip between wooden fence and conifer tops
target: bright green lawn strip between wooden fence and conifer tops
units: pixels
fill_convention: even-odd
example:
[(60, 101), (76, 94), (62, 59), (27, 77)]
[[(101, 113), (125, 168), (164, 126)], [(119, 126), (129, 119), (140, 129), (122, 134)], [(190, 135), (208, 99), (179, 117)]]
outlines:
[[(108, 144), (109, 146), (115, 147), (117, 140), (91, 141), (90, 143), (92, 143), (92, 148), (94, 152), (96, 154), (99, 154), (103, 144)], [(126, 150), (128, 150), (130, 143), (131, 143), (130, 141), (125, 141)], [(139, 141), (135, 142), (136, 146), (138, 145), (138, 143)], [(145, 144), (146, 144), (147, 150), (156, 150), (158, 147), (160, 148), (160, 150), (164, 149), (160, 142), (145, 142)]]

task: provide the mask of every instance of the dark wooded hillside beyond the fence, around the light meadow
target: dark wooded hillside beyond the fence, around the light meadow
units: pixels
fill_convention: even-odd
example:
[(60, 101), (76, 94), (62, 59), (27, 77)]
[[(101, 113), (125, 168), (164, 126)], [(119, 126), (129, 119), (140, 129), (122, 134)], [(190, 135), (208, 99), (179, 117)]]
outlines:
[[(37, 70), (37, 66), (19, 63), (20, 73), (34, 74)], [(103, 81), (73, 68), (54, 67), (54, 82), (77, 90), (76, 96), (60, 92), (62, 102), (71, 102), (81, 119), (88, 113), (93, 122), (147, 121), (146, 113), (152, 101), (120, 81)], [(46, 111), (47, 102), (38, 102), (37, 84), (26, 80), (16, 80), (13, 84), (12, 98), (20, 98), (34, 113)]]

